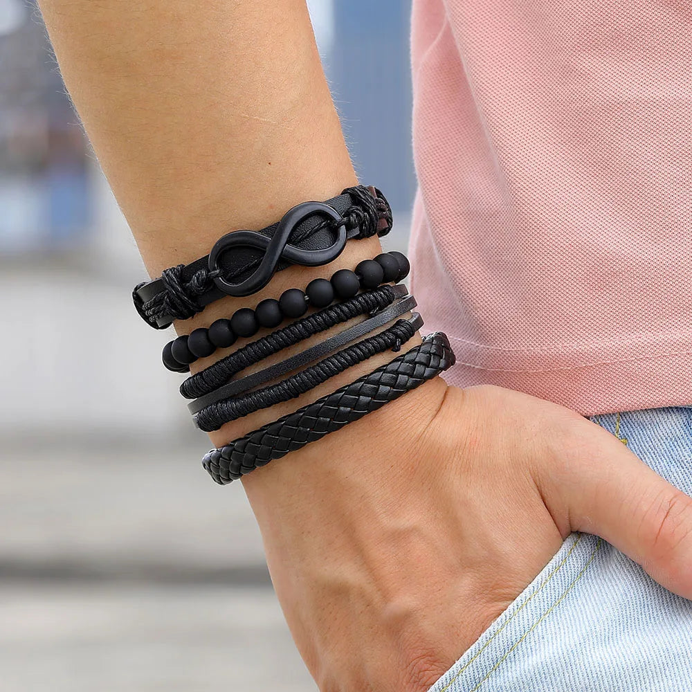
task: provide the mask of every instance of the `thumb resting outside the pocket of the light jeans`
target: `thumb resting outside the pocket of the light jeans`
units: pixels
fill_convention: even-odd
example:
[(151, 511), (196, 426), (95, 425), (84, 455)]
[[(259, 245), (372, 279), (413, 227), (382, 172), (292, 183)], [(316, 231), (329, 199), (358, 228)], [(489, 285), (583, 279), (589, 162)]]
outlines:
[(601, 536), (665, 588), (692, 599), (692, 498), (608, 430), (582, 420), (548, 470), (543, 497), (556, 524)]

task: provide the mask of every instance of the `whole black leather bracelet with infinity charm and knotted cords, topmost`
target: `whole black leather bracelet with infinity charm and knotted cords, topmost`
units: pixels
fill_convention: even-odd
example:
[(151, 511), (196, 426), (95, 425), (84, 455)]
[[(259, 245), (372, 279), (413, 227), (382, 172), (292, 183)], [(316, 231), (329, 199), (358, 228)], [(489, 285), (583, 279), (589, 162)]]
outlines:
[(257, 293), (276, 271), (291, 264), (320, 266), (336, 260), (349, 239), (385, 235), (392, 210), (372, 186), (356, 185), (327, 202), (302, 202), (259, 231), (221, 237), (206, 257), (165, 269), (135, 286), (139, 315), (155, 329), (186, 320), (224, 295)]

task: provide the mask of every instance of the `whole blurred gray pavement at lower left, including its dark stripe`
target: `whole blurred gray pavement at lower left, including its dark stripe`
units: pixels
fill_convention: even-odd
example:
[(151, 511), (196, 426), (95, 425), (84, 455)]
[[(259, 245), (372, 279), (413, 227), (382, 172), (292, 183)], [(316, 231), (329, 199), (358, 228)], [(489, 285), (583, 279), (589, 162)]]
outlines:
[(202, 437), (0, 448), (0, 692), (316, 690)]

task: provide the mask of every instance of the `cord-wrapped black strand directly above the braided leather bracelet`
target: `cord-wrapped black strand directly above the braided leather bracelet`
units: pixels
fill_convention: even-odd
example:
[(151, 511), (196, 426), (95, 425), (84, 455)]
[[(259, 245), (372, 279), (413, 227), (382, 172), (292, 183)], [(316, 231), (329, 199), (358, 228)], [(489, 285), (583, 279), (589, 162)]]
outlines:
[(195, 424), (204, 432), (219, 430), (221, 426), (230, 421), (275, 406), (277, 403), (300, 397), (300, 394), (309, 392), (331, 377), (348, 370), (349, 367), (366, 361), (367, 358), (372, 358), (372, 356), (388, 349), (399, 351), (401, 345), (406, 343), (422, 325), (421, 316), (414, 313), (410, 320), (399, 320), (380, 334), (358, 341), (343, 351), (332, 354), (316, 365), (311, 365), (281, 382), (255, 392), (248, 392), (240, 397), (224, 399), (203, 408), (195, 416)]

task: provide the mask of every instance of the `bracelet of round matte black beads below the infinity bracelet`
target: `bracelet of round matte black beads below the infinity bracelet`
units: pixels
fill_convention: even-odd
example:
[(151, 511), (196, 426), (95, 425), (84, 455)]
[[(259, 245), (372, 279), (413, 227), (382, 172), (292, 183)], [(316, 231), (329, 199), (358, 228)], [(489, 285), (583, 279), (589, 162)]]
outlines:
[(163, 365), (172, 372), (190, 372), (190, 363), (207, 358), (217, 349), (232, 346), (238, 337), (250, 338), (266, 327), (278, 327), (286, 319), (302, 317), (309, 307), (327, 307), (335, 298), (352, 298), (361, 289), (399, 282), (408, 276), (410, 263), (403, 253), (381, 253), (363, 260), (354, 271), (339, 269), (331, 279), (313, 279), (304, 291), (287, 289), (279, 300), (266, 298), (255, 309), (242, 307), (230, 319), (221, 318), (210, 327), (194, 329), (163, 347)]

